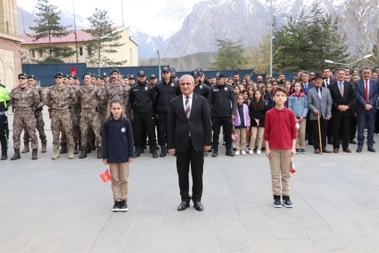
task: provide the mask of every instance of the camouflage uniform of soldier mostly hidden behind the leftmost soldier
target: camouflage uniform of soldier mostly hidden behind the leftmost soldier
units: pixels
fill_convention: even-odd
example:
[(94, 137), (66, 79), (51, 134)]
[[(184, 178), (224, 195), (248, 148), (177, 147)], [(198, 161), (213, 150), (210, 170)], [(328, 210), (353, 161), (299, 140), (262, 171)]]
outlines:
[[(36, 109), (34, 111), (34, 117), (35, 117), (36, 122), (37, 122), (36, 125), (37, 125), (38, 134), (39, 134), (39, 139), (41, 140), (42, 144), (46, 144), (47, 140), (46, 140), (46, 134), (45, 134), (45, 129), (44, 129), (45, 128), (45, 122), (44, 122), (44, 117), (42, 115), (42, 110), (44, 109), (44, 106), (45, 106), (46, 91), (44, 91), (44, 89), (42, 89), (39, 86), (35, 86), (34, 88), (38, 91), (39, 101), (40, 101), (38, 106), (36, 107)], [(25, 146), (29, 146), (29, 141), (30, 141), (30, 137), (29, 137), (28, 130), (24, 127), (24, 144), (25, 144)]]

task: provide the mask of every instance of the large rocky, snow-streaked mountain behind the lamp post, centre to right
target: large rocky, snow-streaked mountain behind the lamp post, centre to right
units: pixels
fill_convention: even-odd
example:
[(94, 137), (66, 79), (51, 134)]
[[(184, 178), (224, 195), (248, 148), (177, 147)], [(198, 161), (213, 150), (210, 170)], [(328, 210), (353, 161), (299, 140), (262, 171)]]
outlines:
[[(272, 1), (272, 13), (277, 26), (287, 23), (289, 16), (297, 17), (302, 9), (308, 11), (313, 0)], [(325, 12), (334, 13), (343, 0), (323, 0)], [(269, 33), (270, 2), (265, 0), (209, 0), (194, 5), (182, 28), (167, 39), (165, 57), (180, 57), (196, 52), (216, 51), (216, 39), (232, 39), (249, 46), (262, 41)]]

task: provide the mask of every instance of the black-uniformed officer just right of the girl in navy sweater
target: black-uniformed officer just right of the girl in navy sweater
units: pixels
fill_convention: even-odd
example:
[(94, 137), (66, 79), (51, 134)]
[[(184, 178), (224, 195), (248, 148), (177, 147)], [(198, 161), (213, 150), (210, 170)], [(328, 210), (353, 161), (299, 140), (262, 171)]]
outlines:
[(143, 146), (142, 130), (146, 129), (149, 136), (150, 151), (153, 158), (157, 155), (157, 139), (154, 131), (154, 104), (156, 103), (156, 94), (152, 86), (146, 82), (146, 74), (140, 70), (137, 75), (138, 82), (130, 89), (130, 104), (134, 112), (134, 138), (136, 142), (136, 151), (134, 157), (139, 157), (142, 153)]

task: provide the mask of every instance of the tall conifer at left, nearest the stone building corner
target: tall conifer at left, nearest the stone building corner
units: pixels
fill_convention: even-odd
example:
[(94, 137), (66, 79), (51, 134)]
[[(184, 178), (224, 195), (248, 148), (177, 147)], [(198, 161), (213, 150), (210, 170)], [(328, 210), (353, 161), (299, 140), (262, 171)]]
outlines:
[(38, 61), (43, 63), (49, 62), (63, 62), (65, 58), (71, 57), (75, 54), (75, 50), (67, 46), (56, 46), (52, 43), (52, 38), (60, 38), (69, 34), (66, 30), (70, 26), (61, 26), (60, 11), (56, 11), (57, 7), (49, 4), (48, 0), (38, 0), (36, 8), (36, 18), (33, 20), (37, 25), (29, 27), (29, 29), (35, 32), (31, 37), (34, 41), (47, 38), (49, 40), (48, 45), (37, 47), (37, 52), (48, 55), (44, 60)]

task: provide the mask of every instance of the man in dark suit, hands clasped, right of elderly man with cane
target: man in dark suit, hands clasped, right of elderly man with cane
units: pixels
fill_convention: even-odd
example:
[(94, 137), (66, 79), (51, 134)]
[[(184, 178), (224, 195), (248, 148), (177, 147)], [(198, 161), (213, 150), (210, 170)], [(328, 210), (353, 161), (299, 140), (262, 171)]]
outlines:
[(332, 97), (332, 128), (333, 128), (333, 153), (340, 149), (340, 137), (342, 150), (351, 153), (349, 149), (350, 121), (353, 116), (354, 90), (350, 82), (345, 81), (345, 69), (336, 71), (336, 81), (328, 86)]

